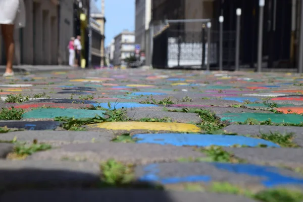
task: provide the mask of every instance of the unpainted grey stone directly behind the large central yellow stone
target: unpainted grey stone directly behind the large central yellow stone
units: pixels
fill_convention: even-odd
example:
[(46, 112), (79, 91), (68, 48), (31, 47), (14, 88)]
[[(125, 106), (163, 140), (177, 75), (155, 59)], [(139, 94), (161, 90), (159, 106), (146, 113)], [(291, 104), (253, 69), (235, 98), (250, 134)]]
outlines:
[(179, 113), (179, 112), (155, 112), (155, 111), (128, 111), (127, 116), (131, 120), (136, 121), (142, 118), (171, 118), (173, 122), (178, 123), (201, 123), (201, 119), (197, 114)]

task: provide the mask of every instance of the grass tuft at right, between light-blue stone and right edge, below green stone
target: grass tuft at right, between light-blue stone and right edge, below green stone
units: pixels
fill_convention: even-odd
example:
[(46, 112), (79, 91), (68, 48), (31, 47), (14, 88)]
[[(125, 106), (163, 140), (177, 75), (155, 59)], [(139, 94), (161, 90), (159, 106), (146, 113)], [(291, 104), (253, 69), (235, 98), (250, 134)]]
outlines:
[(272, 132), (272, 131), (270, 131), (269, 133), (260, 132), (260, 135), (258, 135), (258, 137), (261, 139), (274, 142), (280, 145), (281, 147), (292, 147), (292, 148), (299, 147), (299, 145), (297, 145), (292, 141), (294, 138), (294, 133), (281, 134), (280, 132)]

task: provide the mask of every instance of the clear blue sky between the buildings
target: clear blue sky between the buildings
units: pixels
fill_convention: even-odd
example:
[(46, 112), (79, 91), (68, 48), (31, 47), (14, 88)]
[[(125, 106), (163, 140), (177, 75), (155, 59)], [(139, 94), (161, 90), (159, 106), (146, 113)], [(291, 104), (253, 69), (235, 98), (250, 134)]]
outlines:
[[(101, 0), (96, 1), (101, 10)], [(105, 0), (105, 45), (124, 29), (134, 31), (135, 0)]]

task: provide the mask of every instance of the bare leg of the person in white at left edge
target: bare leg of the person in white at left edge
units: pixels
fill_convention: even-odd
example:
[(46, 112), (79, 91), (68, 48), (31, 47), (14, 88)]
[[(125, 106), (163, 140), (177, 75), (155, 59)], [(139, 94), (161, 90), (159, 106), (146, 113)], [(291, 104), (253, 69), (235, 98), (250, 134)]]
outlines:
[(14, 25), (2, 25), (2, 35), (5, 41), (5, 50), (7, 55), (6, 73), (13, 72), (13, 61), (14, 61)]

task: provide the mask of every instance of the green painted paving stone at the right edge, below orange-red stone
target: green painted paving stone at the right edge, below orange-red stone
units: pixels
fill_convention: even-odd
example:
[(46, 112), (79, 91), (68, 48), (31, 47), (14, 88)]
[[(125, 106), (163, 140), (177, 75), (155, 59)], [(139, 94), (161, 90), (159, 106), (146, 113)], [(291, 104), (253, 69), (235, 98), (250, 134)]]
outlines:
[(266, 114), (266, 113), (225, 113), (222, 115), (222, 121), (244, 122), (248, 118), (256, 119), (258, 121), (267, 121), (271, 119), (274, 123), (294, 123), (299, 124), (303, 122), (303, 116), (296, 114)]

